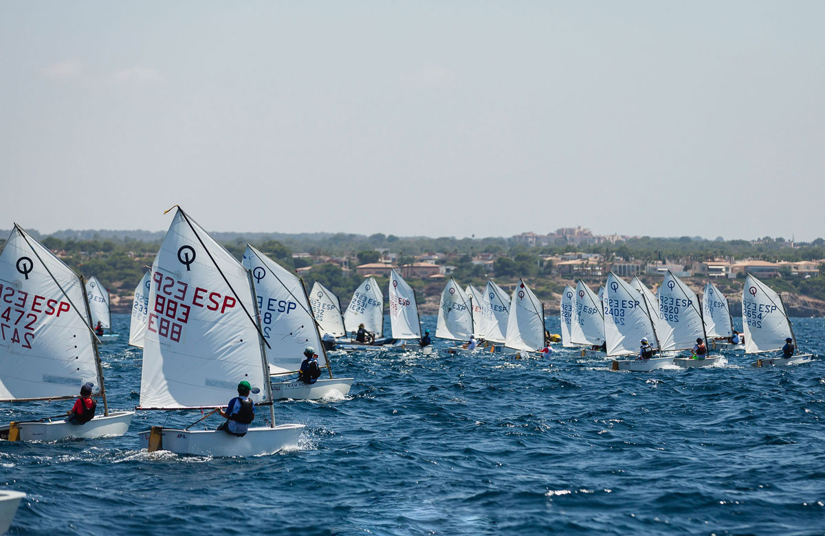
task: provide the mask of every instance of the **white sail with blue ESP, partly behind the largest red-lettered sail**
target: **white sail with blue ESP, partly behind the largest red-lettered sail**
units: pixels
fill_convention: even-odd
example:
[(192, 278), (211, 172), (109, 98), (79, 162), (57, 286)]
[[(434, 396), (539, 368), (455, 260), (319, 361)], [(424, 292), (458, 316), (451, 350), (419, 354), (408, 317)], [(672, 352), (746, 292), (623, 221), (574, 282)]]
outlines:
[(271, 374), (299, 370), (307, 346), (318, 354), (318, 365), (327, 366), (301, 280), (248, 244), (243, 266), (252, 272), (255, 283), (261, 330), (269, 343), (266, 360), (271, 364)]

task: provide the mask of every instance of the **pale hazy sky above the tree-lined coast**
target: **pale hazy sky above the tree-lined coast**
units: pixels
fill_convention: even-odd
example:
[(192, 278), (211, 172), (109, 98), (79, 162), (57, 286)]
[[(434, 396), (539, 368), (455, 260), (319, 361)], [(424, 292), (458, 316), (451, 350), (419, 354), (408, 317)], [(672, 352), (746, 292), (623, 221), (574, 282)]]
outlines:
[(0, 228), (825, 236), (825, 2), (0, 0)]

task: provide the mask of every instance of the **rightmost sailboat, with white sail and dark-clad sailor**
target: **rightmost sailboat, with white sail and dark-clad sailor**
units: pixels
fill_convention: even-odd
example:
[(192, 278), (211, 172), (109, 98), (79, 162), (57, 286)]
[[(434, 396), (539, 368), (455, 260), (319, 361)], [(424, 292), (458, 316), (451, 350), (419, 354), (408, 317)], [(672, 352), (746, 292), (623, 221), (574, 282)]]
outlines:
[[(742, 326), (745, 328), (745, 353), (748, 355), (781, 350), (788, 337), (794, 342), (794, 350), (799, 351), (794, 327), (785, 313), (782, 298), (750, 274), (742, 291)], [(787, 359), (781, 356), (763, 357), (751, 366), (786, 366), (809, 363), (812, 359), (811, 354), (796, 354)]]

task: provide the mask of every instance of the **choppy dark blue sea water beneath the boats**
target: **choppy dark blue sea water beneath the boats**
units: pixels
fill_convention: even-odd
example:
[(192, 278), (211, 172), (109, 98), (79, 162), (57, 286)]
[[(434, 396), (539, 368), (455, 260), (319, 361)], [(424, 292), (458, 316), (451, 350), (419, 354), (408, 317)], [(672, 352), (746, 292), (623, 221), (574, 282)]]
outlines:
[[(817, 355), (823, 328), (794, 319)], [(140, 353), (126, 315), (115, 331), (107, 393), (131, 408)], [(446, 346), (335, 356), (335, 374), (356, 378), (346, 399), (276, 405), (276, 421), (307, 425), (293, 452), (147, 454), (134, 432), (199, 416), (155, 411), (125, 437), (2, 443), (0, 488), (28, 494), (9, 534), (825, 534), (823, 360), (756, 370), (739, 352), (626, 373), (573, 350)], [(70, 403), (5, 405), (0, 421)]]

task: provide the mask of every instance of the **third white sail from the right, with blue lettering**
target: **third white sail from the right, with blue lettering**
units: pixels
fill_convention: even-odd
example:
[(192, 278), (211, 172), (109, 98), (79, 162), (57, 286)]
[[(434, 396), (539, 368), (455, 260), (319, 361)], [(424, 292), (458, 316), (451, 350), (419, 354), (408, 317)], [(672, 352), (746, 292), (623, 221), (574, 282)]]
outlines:
[(667, 270), (662, 286), (659, 287), (658, 304), (656, 314), (667, 326), (662, 331), (656, 330), (662, 351), (690, 350), (697, 338), (705, 338), (699, 299), (670, 270)]

